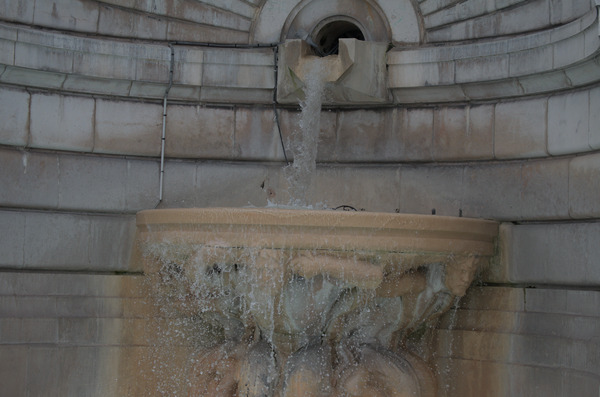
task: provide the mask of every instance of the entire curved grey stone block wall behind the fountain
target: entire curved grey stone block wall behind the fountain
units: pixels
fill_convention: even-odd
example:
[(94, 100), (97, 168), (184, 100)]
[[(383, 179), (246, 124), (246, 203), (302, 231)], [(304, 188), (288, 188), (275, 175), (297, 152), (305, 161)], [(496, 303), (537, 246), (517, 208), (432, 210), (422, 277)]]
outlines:
[[(322, 112), (307, 197), (502, 221), (497, 260), (435, 334), (440, 378), (456, 380), (440, 395), (593, 395), (595, 3), (412, 3), (377, 2), (406, 44), (388, 53), (393, 100)], [(248, 45), (279, 40), (288, 12), (258, 35), (269, 5), (0, 2), (0, 353), (11, 358), (0, 380), (11, 395), (153, 391), (111, 372), (147, 350), (142, 269), (129, 264), (137, 211), (288, 202), (299, 112), (273, 104), (275, 49)]]

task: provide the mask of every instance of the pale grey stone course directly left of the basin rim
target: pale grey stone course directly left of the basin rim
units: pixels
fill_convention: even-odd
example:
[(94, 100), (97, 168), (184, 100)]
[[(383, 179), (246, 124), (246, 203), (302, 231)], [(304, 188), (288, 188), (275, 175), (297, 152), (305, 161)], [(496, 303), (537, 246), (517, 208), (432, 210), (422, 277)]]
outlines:
[(138, 271), (129, 268), (134, 225), (127, 216), (0, 211), (0, 267)]

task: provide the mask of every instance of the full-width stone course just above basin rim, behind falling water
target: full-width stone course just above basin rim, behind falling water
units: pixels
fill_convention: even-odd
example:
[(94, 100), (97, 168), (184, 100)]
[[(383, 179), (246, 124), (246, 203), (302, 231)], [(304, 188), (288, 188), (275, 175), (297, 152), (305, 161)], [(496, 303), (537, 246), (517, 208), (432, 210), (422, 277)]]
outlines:
[[(7, 187), (0, 191), (0, 206), (133, 214), (158, 203), (154, 160), (10, 149), (0, 155), (6, 164), (0, 183)], [(320, 164), (306, 197), (313, 205), (346, 204), (380, 212), (397, 209), (430, 214), (436, 209), (439, 215), (457, 216), (462, 211), (466, 217), (509, 221), (574, 219), (573, 214), (597, 218), (598, 203), (583, 198), (594, 197), (600, 179), (590, 179), (582, 168), (588, 163), (593, 167), (597, 156), (447, 165)], [(167, 160), (161, 208), (263, 207), (289, 202), (282, 163), (243, 164)], [(18, 212), (9, 214), (14, 217)], [(22, 223), (17, 218), (14, 222), (21, 219)], [(86, 225), (72, 226), (87, 230)], [(5, 243), (14, 242), (17, 236)], [(19, 249), (6, 253), (5, 258), (16, 255), (13, 259), (24, 263)]]

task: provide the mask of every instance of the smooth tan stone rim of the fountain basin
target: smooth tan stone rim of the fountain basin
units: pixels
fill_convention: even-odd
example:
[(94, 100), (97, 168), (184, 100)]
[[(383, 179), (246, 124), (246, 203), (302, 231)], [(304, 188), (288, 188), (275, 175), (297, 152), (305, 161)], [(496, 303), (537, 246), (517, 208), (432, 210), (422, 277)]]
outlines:
[(497, 222), (482, 219), (276, 208), (146, 210), (136, 224), (138, 243), (310, 251), (403, 267), (490, 257), (498, 233)]

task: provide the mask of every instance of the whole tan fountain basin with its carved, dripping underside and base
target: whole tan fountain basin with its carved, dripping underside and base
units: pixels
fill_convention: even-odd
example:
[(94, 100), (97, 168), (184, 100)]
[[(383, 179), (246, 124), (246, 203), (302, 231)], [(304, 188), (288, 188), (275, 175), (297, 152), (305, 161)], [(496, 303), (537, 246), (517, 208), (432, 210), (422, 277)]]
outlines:
[(137, 216), (133, 260), (180, 315), (217, 329), (195, 353), (189, 395), (429, 396), (434, 377), (405, 341), (465, 294), (497, 228), (368, 212), (150, 210)]

